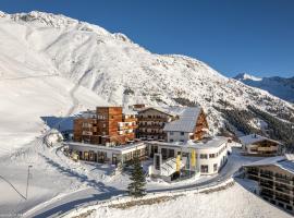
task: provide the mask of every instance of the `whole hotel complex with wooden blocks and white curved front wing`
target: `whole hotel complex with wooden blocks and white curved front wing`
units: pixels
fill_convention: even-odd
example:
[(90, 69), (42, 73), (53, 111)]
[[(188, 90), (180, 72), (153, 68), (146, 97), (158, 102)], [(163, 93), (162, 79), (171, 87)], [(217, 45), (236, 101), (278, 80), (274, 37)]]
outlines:
[(229, 138), (205, 137), (207, 129), (200, 107), (97, 107), (74, 120), (74, 142), (68, 145), (74, 159), (87, 161), (124, 165), (134, 157), (154, 158), (149, 174), (172, 181), (216, 174), (225, 165)]

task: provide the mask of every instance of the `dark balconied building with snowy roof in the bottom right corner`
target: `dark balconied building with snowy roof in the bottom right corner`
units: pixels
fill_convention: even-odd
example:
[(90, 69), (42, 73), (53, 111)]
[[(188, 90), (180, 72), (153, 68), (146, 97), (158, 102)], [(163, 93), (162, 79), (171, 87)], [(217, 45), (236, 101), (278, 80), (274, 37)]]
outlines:
[(243, 168), (245, 177), (257, 182), (257, 194), (294, 214), (293, 155), (266, 158), (245, 165)]

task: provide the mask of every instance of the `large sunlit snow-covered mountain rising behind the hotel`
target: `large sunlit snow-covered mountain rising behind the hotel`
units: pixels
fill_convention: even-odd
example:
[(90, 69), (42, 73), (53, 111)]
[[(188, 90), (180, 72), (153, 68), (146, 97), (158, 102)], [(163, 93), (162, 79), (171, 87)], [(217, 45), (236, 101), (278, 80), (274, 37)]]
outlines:
[(15, 132), (20, 121), (23, 132), (36, 133), (41, 116), (106, 102), (197, 102), (208, 113), (212, 132), (223, 125), (217, 109), (223, 102), (242, 109), (257, 106), (272, 114), (294, 110), (196, 59), (151, 53), (123, 34), (41, 12), (0, 13), (0, 76), (1, 135)]

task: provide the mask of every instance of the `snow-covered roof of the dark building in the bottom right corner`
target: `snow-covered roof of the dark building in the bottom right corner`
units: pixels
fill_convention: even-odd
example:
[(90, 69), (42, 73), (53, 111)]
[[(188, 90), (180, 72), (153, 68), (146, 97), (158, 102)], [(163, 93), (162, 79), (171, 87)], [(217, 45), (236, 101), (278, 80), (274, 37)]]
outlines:
[(244, 165), (244, 167), (255, 167), (255, 166), (277, 166), (283, 170), (294, 173), (294, 161), (293, 155), (269, 157), (262, 160)]

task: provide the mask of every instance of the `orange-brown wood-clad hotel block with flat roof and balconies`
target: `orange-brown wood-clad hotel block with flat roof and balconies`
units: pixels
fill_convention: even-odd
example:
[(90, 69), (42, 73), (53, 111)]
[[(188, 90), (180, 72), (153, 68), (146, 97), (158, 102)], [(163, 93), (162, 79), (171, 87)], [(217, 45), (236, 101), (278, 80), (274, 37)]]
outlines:
[(135, 138), (136, 112), (122, 107), (97, 107), (74, 119), (74, 142), (122, 145)]

